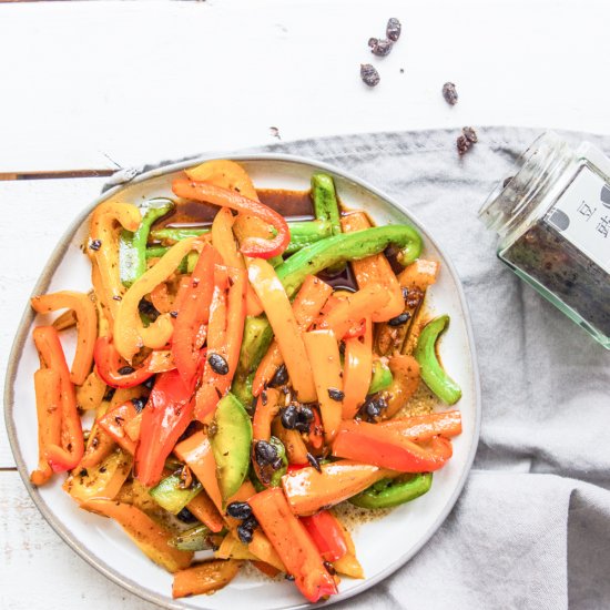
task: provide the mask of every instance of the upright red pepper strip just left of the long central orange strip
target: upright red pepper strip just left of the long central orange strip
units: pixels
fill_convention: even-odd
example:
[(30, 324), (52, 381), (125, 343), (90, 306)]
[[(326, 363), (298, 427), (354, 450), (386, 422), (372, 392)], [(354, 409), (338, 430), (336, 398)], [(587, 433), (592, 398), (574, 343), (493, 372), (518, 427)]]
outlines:
[(172, 338), (172, 355), (185, 384), (191, 383), (197, 370), (200, 349), (206, 335), (204, 325), (210, 319), (214, 266), (221, 263), (222, 258), (215, 248), (207, 244), (203, 246), (191, 282), (184, 292), (181, 291), (181, 307), (177, 309)]

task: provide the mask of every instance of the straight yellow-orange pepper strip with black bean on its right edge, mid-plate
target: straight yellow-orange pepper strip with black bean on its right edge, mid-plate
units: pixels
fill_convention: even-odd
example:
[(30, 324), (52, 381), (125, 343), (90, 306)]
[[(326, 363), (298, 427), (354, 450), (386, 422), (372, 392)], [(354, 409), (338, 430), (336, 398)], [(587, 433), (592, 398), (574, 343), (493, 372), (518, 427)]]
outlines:
[(311, 331), (303, 340), (314, 374), (324, 438), (331, 444), (340, 425), (345, 396), (337, 338), (333, 331)]

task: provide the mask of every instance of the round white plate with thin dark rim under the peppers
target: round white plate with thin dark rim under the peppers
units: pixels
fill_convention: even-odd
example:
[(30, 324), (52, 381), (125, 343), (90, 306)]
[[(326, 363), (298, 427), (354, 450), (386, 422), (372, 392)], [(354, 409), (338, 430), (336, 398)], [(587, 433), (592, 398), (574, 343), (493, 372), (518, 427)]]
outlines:
[[(126, 186), (115, 187), (93, 202), (74, 221), (50, 256), (34, 293), (90, 288), (89, 262), (80, 245), (88, 231), (88, 216), (95, 205), (108, 200), (138, 203), (151, 196), (171, 196), (172, 179), (182, 169), (204, 160), (142, 174)], [(470, 321), (451, 263), (405, 206), (356, 177), (318, 162), (286, 155), (240, 156), (235, 160), (244, 165), (257, 187), (306, 190), (314, 171), (326, 171), (334, 175), (344, 205), (366, 209), (379, 225), (415, 225), (424, 237), (423, 256), (441, 263), (439, 281), (429, 291), (427, 304), (433, 312), (447, 313), (451, 317), (440, 352), (445, 366), (462, 388), (462, 398), (457, 407), (462, 414), (464, 431), (454, 439), (454, 457), (435, 474), (433, 488), (427, 495), (356, 530), (354, 541), (367, 578), (342, 579), (339, 594), (325, 602), (328, 606), (329, 602), (344, 600), (368, 589), (410, 559), (443, 523), (461, 491), (475, 456), (480, 423), (480, 393)], [(221, 609), (247, 606), (252, 610), (274, 610), (311, 607), (291, 582), (265, 581), (263, 578), (254, 579), (243, 575), (214, 596), (172, 600), (171, 575), (144, 557), (114, 522), (80, 510), (61, 490), (62, 477), (55, 477), (41, 489), (30, 485), (29, 472), (38, 461), (33, 373), (39, 366), (30, 334), (34, 323), (43, 322), (44, 316), (34, 319), (33, 313), (27, 308), (9, 360), (4, 409), (9, 438), (23, 482), (44, 518), (63, 540), (125, 589), (165, 608)], [(68, 356), (70, 358), (71, 354)]]

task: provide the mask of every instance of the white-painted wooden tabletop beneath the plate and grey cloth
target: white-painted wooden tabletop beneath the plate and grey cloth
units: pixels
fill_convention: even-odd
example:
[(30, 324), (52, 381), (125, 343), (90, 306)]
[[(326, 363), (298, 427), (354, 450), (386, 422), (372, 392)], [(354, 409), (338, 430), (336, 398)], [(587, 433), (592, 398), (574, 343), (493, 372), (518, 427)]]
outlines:
[[(367, 49), (388, 17), (403, 37)], [(0, 3), (0, 172), (466, 124), (610, 133), (606, 0)], [(369, 90), (359, 64), (378, 67)], [(404, 70), (404, 72), (401, 71)], [(440, 95), (459, 92), (456, 106)], [(103, 179), (0, 182), (0, 375), (48, 253)], [(152, 608), (47, 526), (0, 426), (0, 607)], [(102, 601), (103, 600), (103, 601)]]

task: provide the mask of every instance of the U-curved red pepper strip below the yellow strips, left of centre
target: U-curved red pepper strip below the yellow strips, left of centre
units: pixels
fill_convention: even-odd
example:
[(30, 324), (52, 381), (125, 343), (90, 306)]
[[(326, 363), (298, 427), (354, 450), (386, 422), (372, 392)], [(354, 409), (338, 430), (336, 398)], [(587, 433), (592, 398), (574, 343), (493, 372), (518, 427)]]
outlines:
[(114, 388), (139, 386), (156, 373), (175, 368), (172, 353), (167, 349), (155, 349), (138, 368), (130, 366), (121, 358), (110, 337), (100, 337), (95, 342), (93, 359), (98, 375), (104, 384)]

